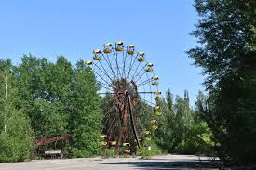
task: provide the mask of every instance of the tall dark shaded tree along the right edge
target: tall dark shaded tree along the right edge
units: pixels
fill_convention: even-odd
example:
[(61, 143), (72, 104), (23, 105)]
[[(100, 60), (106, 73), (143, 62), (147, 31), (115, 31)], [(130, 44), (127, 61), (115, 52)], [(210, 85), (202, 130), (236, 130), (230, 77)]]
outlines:
[(188, 54), (207, 75), (211, 107), (202, 112), (215, 149), (224, 163), (255, 165), (256, 2), (195, 0), (195, 8), (201, 46)]

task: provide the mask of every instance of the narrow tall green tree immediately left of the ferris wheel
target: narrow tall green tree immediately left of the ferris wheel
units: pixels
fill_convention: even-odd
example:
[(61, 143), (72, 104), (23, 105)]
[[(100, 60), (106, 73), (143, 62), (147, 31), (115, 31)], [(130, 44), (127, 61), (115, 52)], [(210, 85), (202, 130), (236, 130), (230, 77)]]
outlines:
[(101, 149), (102, 113), (96, 79), (82, 60), (76, 64), (72, 89), (72, 151), (74, 157), (88, 157)]

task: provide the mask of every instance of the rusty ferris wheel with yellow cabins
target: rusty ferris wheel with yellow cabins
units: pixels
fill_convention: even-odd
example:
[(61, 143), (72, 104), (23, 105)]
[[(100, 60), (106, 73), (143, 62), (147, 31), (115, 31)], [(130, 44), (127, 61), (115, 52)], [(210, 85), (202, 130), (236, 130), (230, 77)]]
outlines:
[(158, 128), (162, 98), (159, 77), (145, 53), (121, 41), (105, 43), (102, 49), (93, 51), (93, 60), (86, 64), (96, 76), (102, 100), (106, 100), (102, 145), (115, 146), (115, 150), (122, 146), (129, 153), (132, 142), (140, 148), (141, 143), (150, 141)]

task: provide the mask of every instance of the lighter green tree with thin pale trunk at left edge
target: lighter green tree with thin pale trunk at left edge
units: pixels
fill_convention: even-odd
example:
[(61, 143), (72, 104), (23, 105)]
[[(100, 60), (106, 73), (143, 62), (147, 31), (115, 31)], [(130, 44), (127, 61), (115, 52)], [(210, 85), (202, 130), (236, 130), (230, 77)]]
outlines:
[(32, 130), (18, 109), (18, 90), (10, 60), (0, 60), (0, 162), (23, 161), (30, 156)]

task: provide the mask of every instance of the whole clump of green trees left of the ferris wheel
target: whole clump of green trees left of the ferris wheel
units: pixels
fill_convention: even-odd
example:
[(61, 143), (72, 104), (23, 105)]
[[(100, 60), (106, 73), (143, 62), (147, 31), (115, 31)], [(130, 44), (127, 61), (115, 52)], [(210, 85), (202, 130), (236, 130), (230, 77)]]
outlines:
[(61, 149), (74, 157), (98, 152), (100, 98), (83, 61), (73, 67), (63, 56), (52, 63), (25, 55), (19, 66), (10, 60), (1, 60), (0, 66), (1, 162), (28, 158), (32, 134), (34, 139), (71, 135), (69, 143), (48, 144), (46, 150)]

